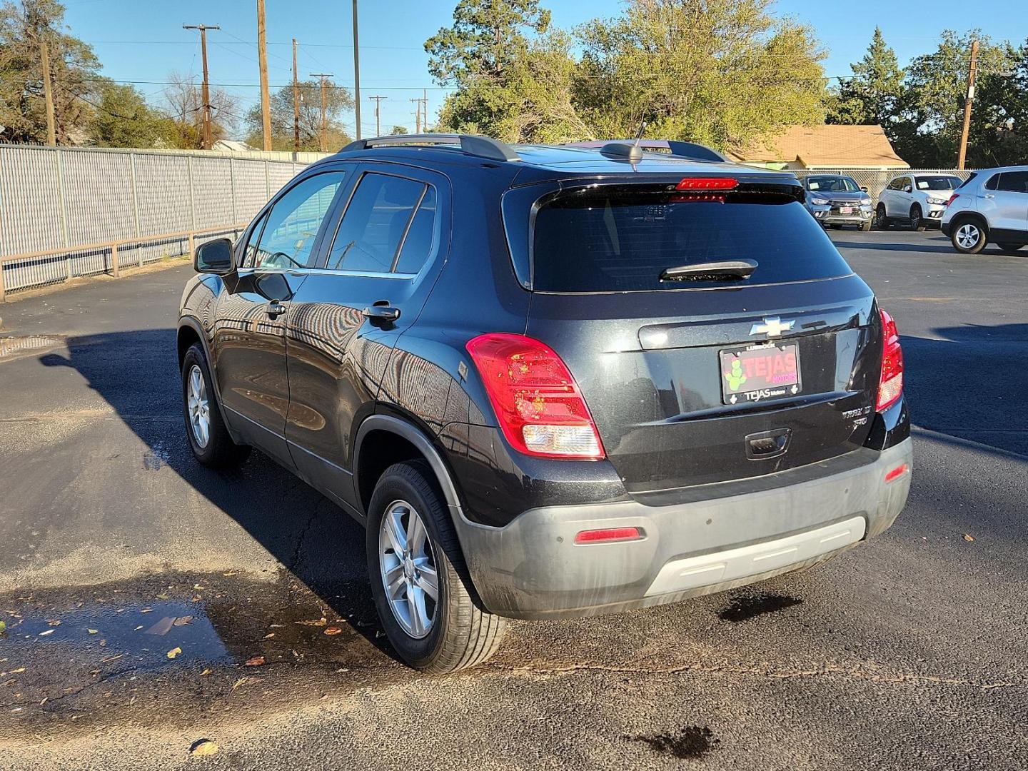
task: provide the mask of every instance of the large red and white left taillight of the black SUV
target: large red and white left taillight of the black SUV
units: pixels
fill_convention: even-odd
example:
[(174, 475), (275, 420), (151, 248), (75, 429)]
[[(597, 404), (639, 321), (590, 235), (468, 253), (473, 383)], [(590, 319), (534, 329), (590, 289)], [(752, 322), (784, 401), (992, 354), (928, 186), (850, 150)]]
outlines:
[(542, 457), (603, 457), (582, 392), (549, 345), (524, 335), (490, 333), (470, 340), (468, 353), (516, 450)]

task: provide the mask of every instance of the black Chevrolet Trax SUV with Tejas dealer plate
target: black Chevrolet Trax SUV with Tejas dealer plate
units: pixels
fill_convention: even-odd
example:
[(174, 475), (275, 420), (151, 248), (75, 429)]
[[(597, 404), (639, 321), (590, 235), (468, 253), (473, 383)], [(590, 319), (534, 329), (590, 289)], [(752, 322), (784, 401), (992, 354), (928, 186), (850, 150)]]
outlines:
[(894, 322), (793, 175), (667, 145), (360, 140), (196, 250), (197, 460), (258, 447), (361, 522), (413, 667), (807, 567), (906, 503)]

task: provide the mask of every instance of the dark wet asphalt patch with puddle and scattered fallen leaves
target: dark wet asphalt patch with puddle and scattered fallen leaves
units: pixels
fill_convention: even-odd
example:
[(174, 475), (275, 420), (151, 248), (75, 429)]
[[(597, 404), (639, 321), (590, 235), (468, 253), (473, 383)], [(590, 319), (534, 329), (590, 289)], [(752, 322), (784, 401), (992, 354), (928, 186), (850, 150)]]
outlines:
[(230, 572), (0, 596), (0, 737), (95, 730), (122, 712), (145, 723), (148, 709), (156, 723), (161, 704), (200, 720), (409, 676), (367, 586), (335, 591)]

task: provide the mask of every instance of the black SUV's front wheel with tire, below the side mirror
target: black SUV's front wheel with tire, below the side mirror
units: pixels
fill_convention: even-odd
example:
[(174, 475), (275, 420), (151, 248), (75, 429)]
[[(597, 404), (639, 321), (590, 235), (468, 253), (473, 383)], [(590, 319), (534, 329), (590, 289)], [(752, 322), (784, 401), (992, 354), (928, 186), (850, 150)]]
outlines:
[(193, 455), (211, 469), (230, 469), (250, 454), (250, 447), (232, 441), (214, 391), (204, 348), (193, 344), (182, 360), (182, 415)]

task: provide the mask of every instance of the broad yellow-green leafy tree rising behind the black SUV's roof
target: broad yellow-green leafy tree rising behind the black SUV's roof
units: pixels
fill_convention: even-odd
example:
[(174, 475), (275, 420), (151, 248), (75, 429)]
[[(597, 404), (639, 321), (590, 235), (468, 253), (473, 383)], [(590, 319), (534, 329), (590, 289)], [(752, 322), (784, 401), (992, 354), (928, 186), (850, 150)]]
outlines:
[(651, 136), (736, 149), (824, 119), (811, 31), (772, 0), (631, 0), (581, 31), (576, 101), (597, 136)]

